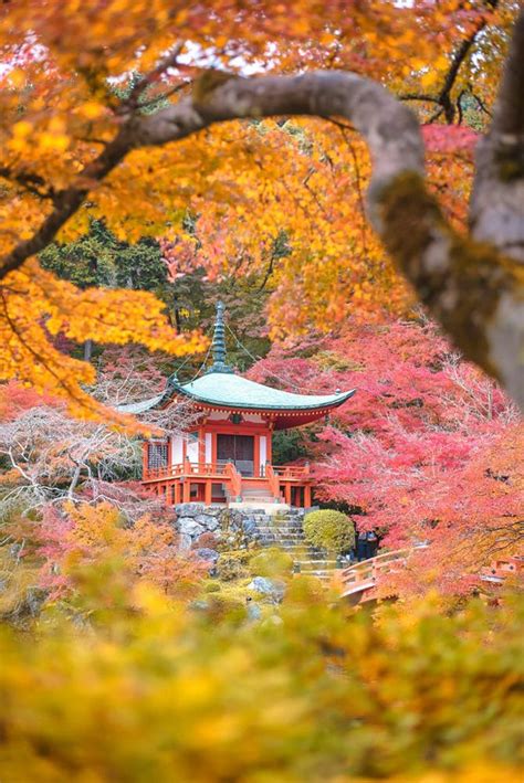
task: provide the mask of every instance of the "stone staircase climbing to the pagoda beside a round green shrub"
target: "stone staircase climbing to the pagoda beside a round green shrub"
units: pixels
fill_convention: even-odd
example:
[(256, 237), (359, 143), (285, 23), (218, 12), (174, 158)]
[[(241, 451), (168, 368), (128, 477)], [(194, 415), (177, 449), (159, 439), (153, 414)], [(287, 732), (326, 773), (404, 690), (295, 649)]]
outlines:
[(291, 554), (295, 572), (329, 579), (337, 561), (306, 543), (303, 519), (304, 509), (295, 508), (271, 519), (263, 514), (253, 514), (253, 537), (262, 547), (279, 547)]

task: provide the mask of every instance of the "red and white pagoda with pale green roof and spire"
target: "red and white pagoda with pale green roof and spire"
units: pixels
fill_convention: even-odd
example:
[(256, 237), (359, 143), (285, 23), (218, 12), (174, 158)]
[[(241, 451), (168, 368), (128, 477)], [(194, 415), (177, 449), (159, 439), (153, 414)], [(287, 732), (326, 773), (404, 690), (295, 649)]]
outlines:
[(217, 305), (212, 366), (190, 383), (169, 379), (161, 394), (122, 405), (140, 414), (190, 401), (188, 431), (144, 443), (143, 484), (167, 504), (228, 504), (235, 507), (311, 506), (308, 465), (273, 465), (272, 435), (314, 422), (355, 390), (310, 395), (272, 389), (237, 375), (227, 364), (223, 305)]

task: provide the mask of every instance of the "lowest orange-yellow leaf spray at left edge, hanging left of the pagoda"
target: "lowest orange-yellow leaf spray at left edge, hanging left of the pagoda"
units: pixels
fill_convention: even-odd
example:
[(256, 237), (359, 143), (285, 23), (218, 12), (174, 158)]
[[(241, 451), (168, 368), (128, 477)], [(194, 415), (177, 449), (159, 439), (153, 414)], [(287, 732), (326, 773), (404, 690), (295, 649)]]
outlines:
[(42, 269), (35, 262), (6, 278), (0, 290), (0, 380), (18, 378), (36, 391), (66, 399), (70, 410), (136, 428), (136, 422), (106, 409), (83, 385), (95, 380), (94, 368), (54, 348), (48, 332), (77, 342), (93, 339), (124, 345), (142, 342), (150, 350), (185, 356), (202, 350), (197, 332), (177, 335), (163, 304), (153, 294), (88, 288), (81, 290)]

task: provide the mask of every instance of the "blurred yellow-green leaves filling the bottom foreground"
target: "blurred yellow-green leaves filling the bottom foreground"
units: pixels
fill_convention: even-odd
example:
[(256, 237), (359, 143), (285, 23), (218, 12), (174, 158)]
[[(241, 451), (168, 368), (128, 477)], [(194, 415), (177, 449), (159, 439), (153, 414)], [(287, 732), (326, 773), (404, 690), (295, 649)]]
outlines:
[(522, 601), (345, 616), (303, 576), (279, 620), (213, 601), (120, 584), (103, 623), (3, 631), (2, 779), (518, 780)]

